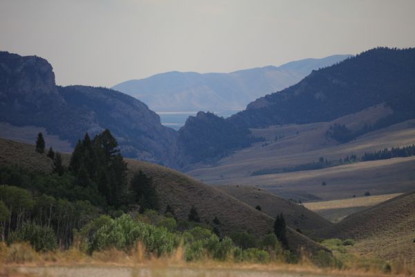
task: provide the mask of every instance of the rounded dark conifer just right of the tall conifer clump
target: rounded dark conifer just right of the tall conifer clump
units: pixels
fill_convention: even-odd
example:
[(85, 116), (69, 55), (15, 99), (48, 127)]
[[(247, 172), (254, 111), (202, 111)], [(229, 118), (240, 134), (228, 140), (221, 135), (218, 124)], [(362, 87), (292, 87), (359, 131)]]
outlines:
[[(141, 170), (138, 174), (133, 176), (131, 179), (130, 185), (131, 191), (134, 195), (135, 202), (140, 205), (140, 212), (144, 212), (147, 209), (158, 211), (158, 197), (156, 188), (154, 188), (153, 181), (151, 177), (147, 177)], [(174, 211), (170, 206), (167, 213), (172, 213), (174, 216)]]

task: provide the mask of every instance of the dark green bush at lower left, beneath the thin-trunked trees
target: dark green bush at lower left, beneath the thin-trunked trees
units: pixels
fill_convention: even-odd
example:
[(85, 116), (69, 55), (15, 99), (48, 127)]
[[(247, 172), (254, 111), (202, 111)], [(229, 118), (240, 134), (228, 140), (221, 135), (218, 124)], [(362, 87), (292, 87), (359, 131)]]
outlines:
[(36, 224), (23, 224), (20, 229), (10, 233), (8, 242), (29, 242), (36, 251), (57, 249), (57, 241), (53, 229)]

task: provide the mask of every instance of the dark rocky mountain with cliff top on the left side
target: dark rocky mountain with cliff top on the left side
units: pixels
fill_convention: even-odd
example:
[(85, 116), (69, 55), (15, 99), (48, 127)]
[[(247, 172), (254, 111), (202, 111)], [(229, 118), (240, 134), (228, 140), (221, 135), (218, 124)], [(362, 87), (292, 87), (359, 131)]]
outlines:
[(0, 122), (46, 127), (73, 144), (108, 128), (126, 157), (174, 166), (177, 134), (147, 105), (111, 89), (57, 87), (40, 57), (0, 53), (0, 107)]

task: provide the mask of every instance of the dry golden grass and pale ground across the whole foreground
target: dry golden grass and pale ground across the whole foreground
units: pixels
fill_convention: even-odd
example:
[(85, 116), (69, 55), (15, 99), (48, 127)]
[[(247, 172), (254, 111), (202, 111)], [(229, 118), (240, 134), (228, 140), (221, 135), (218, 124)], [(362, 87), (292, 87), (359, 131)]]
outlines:
[[(319, 267), (306, 255), (295, 264), (282, 260), (266, 263), (214, 260), (208, 256), (187, 262), (185, 249), (178, 247), (169, 256), (149, 256), (142, 244), (126, 253), (117, 249), (96, 251), (92, 255), (76, 247), (37, 252), (30, 244), (1, 244), (0, 276), (411, 276), (413, 269), (394, 267), (380, 259), (359, 258), (349, 252), (351, 240), (326, 240), (338, 262)], [(324, 261), (322, 261), (324, 262)]]

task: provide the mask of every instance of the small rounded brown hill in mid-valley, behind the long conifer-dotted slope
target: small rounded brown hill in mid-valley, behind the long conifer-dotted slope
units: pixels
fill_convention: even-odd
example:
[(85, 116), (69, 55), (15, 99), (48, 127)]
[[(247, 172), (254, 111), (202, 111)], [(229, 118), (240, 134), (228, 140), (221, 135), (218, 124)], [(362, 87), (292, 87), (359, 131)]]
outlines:
[(274, 195), (267, 190), (254, 186), (219, 186), (218, 188), (252, 207), (261, 206), (261, 211), (271, 217), (283, 213), (287, 225), (293, 229), (299, 228), (306, 231), (331, 226), (328, 220), (324, 220), (323, 217), (308, 208)]

